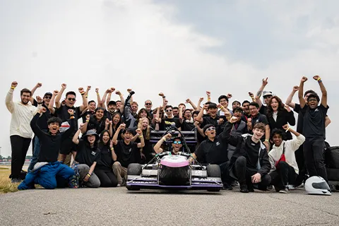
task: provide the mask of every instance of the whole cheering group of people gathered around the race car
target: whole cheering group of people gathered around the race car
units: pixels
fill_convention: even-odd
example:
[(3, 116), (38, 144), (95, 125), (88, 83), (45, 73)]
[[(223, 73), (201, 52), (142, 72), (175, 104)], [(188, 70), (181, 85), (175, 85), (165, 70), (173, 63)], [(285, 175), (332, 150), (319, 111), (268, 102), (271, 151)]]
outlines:
[[(302, 77), (284, 104), (277, 95), (263, 91), (266, 78), (256, 95), (249, 92), (249, 100), (234, 100), (232, 107), (231, 94), (220, 95), (216, 103), (208, 91), (207, 102), (201, 97), (197, 105), (187, 99), (177, 106), (169, 105), (159, 93), (162, 106), (153, 108), (152, 101), (145, 100), (141, 109), (133, 101), (131, 89), (126, 99), (114, 88), (105, 90), (102, 97), (95, 89), (95, 101), (88, 100), (90, 86), (78, 89), (82, 105), (75, 107), (77, 93), (64, 95), (64, 83), (61, 90), (33, 98), (42, 86), (37, 83), (32, 90), (20, 90), (20, 101), (13, 102), (18, 85), (14, 81), (6, 95), (12, 116), (11, 181), (20, 182), (18, 189), (32, 189), (35, 184), (46, 189), (124, 186), (129, 164), (149, 162), (167, 148), (164, 144), (168, 141), (172, 154), (182, 150), (183, 138), (172, 138), (170, 133), (155, 144), (150, 142), (151, 131), (175, 126), (196, 131), (197, 145), (191, 146), (189, 161), (219, 165), (224, 189), (231, 190), (239, 183), (240, 191), (248, 193), (273, 185), (275, 191), (288, 193), (302, 184), (306, 175), (320, 176), (327, 182), (323, 150), (325, 129), (331, 120), (326, 88), (319, 76), (313, 79), (319, 83), (321, 98), (314, 90), (304, 92), (307, 78)], [(292, 102), (297, 92), (299, 104)], [(111, 100), (114, 93), (119, 100)], [(296, 124), (292, 109), (298, 114), (296, 131), (290, 127)], [(25, 174), (22, 167), (31, 138), (33, 157)]]

